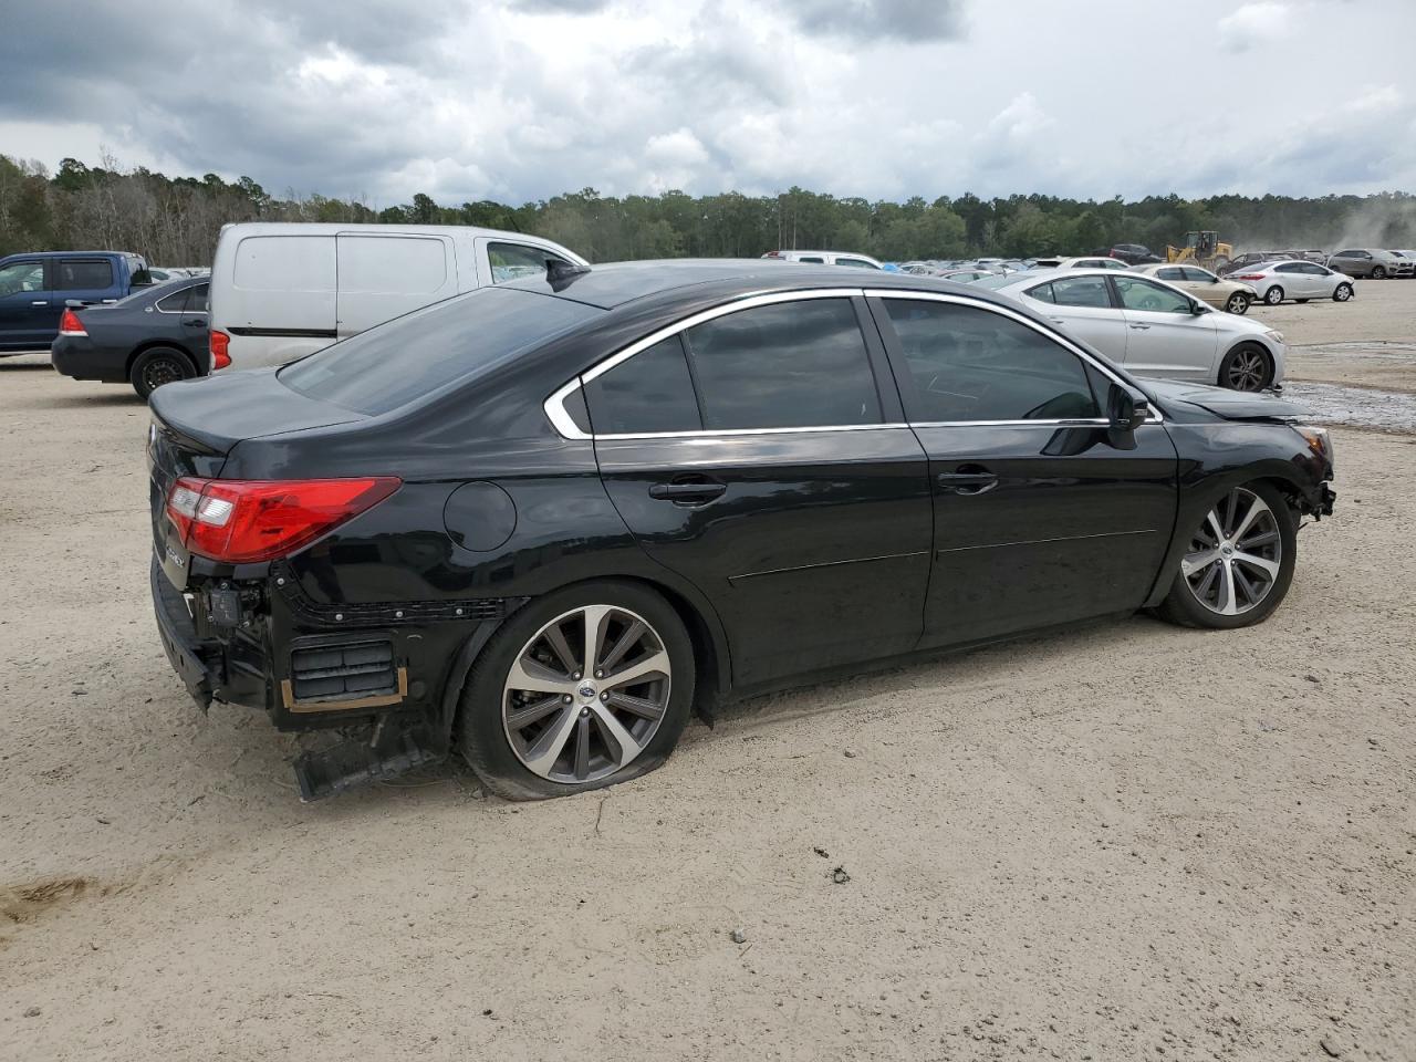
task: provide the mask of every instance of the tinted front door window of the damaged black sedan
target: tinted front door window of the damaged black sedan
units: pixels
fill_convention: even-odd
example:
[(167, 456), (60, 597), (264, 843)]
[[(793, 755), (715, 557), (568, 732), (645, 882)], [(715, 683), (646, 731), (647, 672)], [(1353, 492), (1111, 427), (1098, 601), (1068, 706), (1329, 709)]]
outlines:
[(885, 299), (909, 365), (910, 421), (1056, 421), (1097, 416), (1082, 360), (1001, 313)]

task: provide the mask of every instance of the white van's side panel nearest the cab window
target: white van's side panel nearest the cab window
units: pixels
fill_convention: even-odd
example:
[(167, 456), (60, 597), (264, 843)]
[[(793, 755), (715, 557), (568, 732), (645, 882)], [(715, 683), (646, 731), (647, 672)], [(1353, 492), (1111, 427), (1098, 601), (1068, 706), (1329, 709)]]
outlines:
[(340, 232), (338, 337), (457, 295), (452, 239), (433, 235)]

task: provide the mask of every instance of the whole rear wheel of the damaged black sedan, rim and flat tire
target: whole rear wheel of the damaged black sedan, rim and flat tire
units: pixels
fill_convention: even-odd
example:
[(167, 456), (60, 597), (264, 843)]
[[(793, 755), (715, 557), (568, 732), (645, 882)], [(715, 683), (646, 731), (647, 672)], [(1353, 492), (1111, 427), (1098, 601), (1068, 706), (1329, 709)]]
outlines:
[(532, 600), (467, 674), (457, 742), (508, 800), (582, 793), (664, 763), (688, 722), (694, 649), (653, 590), (590, 582)]

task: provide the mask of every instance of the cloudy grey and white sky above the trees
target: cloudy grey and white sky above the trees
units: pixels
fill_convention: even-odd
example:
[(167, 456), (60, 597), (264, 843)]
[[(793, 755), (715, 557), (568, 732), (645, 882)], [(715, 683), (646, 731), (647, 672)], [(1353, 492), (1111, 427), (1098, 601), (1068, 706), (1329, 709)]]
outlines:
[(269, 191), (1416, 190), (1416, 0), (4, 3), (0, 153)]

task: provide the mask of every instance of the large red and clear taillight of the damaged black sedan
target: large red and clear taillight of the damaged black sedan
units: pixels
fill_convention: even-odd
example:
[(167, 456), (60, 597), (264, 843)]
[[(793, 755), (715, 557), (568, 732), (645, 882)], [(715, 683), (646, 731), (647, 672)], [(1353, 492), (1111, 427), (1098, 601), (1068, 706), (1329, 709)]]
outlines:
[(357, 480), (204, 480), (183, 477), (167, 494), (167, 517), (187, 549), (249, 564), (293, 554), (372, 508), (402, 484)]

